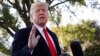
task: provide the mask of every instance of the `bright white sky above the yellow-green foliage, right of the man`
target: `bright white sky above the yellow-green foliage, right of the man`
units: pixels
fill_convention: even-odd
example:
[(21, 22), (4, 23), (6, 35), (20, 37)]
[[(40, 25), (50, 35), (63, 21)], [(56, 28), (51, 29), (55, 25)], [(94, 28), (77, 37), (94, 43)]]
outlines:
[[(96, 0), (95, 0), (96, 1)], [(100, 1), (97, 0), (98, 3), (100, 4)], [(73, 10), (76, 14), (75, 16), (72, 16), (70, 18), (71, 13), (65, 8), (62, 9), (62, 20), (61, 20), (61, 25), (66, 25), (69, 23), (75, 24), (75, 23), (79, 23), (82, 19), (84, 20), (95, 20), (97, 22), (98, 25), (100, 25), (100, 9), (96, 9), (96, 8), (92, 8), (91, 7), (91, 2), (93, 2), (93, 0), (87, 0), (86, 1), (86, 7), (85, 6), (71, 6), (70, 4), (70, 8), (71, 10)], [(98, 6), (98, 8), (100, 8), (100, 5)]]

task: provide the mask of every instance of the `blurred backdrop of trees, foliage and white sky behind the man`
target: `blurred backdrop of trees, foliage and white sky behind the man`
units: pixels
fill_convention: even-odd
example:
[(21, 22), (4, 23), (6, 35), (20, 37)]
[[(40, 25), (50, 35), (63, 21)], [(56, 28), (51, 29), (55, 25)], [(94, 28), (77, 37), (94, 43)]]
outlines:
[(62, 52), (72, 56), (74, 40), (85, 56), (100, 56), (100, 0), (0, 0), (0, 56), (11, 56), (15, 32), (31, 24), (30, 5), (41, 1), (49, 4), (47, 26), (57, 34)]

